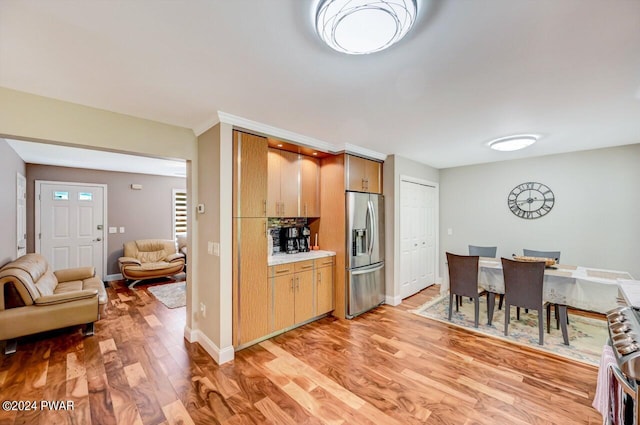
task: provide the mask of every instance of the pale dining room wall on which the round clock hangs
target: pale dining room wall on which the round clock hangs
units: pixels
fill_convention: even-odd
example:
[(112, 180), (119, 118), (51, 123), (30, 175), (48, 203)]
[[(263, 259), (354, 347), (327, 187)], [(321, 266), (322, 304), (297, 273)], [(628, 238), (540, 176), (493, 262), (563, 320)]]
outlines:
[[(640, 279), (640, 144), (440, 170), (440, 261), (467, 245), (561, 251), (564, 264), (630, 272)], [(526, 181), (546, 184), (555, 205), (524, 220), (507, 195)], [(447, 230), (453, 231), (452, 235)]]

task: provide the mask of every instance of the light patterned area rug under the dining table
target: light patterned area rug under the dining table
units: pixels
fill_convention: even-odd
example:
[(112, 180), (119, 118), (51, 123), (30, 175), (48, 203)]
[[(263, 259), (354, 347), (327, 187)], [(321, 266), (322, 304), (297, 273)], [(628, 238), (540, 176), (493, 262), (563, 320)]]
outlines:
[(543, 311), (544, 345), (538, 344), (538, 312), (520, 309), (520, 320), (516, 319), (516, 308), (511, 308), (509, 335), (504, 335), (504, 310), (496, 308), (491, 326), (487, 325), (486, 297), (480, 299), (480, 320), (478, 328), (474, 328), (474, 303), (465, 298), (460, 311), (453, 309), (451, 321), (449, 317), (449, 296), (438, 297), (421, 307), (411, 311), (419, 316), (438, 320), (443, 323), (459, 326), (472, 332), (500, 338), (515, 344), (550, 352), (571, 360), (597, 366), (600, 362), (602, 347), (609, 336), (606, 321), (569, 313), (569, 346), (564, 345), (562, 332), (556, 329), (556, 320), (551, 313), (551, 333), (547, 333), (546, 312)]

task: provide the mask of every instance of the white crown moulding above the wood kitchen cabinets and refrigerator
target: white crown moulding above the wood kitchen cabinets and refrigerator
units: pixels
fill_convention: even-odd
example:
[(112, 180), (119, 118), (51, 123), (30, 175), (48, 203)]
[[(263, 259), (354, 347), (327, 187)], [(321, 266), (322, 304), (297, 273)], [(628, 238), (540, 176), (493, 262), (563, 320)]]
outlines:
[(303, 134), (294, 133), (289, 130), (284, 130), (272, 125), (263, 124), (257, 121), (253, 121), (247, 118), (239, 117), (237, 115), (227, 114), (226, 112), (218, 111), (219, 121), (225, 124), (231, 124), (234, 127), (239, 127), (245, 130), (250, 130), (262, 134), (264, 136), (273, 137), (276, 139), (282, 139), (295, 143), (297, 145), (306, 146), (308, 148), (316, 149), (322, 152), (328, 153), (340, 153), (349, 152), (356, 155), (366, 156), (372, 159), (378, 159), (384, 161), (387, 155), (380, 152), (366, 149), (360, 146), (345, 144), (344, 146), (334, 145), (323, 140), (315, 139), (313, 137), (305, 136)]

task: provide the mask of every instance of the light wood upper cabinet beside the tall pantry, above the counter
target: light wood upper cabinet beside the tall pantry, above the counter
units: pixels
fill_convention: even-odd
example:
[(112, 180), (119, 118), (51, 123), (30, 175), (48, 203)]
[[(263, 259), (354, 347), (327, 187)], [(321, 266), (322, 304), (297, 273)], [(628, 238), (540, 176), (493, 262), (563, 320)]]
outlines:
[(267, 215), (298, 216), (298, 154), (268, 149)]

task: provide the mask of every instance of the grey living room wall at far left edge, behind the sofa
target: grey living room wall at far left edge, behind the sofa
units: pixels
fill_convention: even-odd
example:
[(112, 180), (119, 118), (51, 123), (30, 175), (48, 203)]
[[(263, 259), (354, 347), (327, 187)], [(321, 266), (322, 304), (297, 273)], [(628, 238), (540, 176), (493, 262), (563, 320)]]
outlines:
[(26, 175), (25, 164), (13, 151), (11, 146), (0, 139), (0, 223), (2, 223), (2, 237), (0, 238), (0, 267), (16, 259), (16, 176), (17, 173)]

